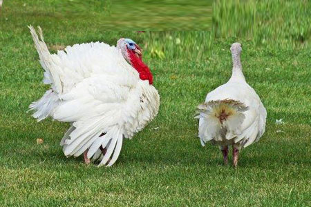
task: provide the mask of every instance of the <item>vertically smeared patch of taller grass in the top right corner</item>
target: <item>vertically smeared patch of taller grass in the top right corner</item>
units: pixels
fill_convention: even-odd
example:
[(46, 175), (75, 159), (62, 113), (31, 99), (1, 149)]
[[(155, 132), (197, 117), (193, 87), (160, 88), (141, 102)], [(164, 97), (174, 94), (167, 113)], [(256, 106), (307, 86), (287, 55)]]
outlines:
[(311, 1), (215, 0), (213, 37), (241, 37), (267, 47), (310, 46)]

